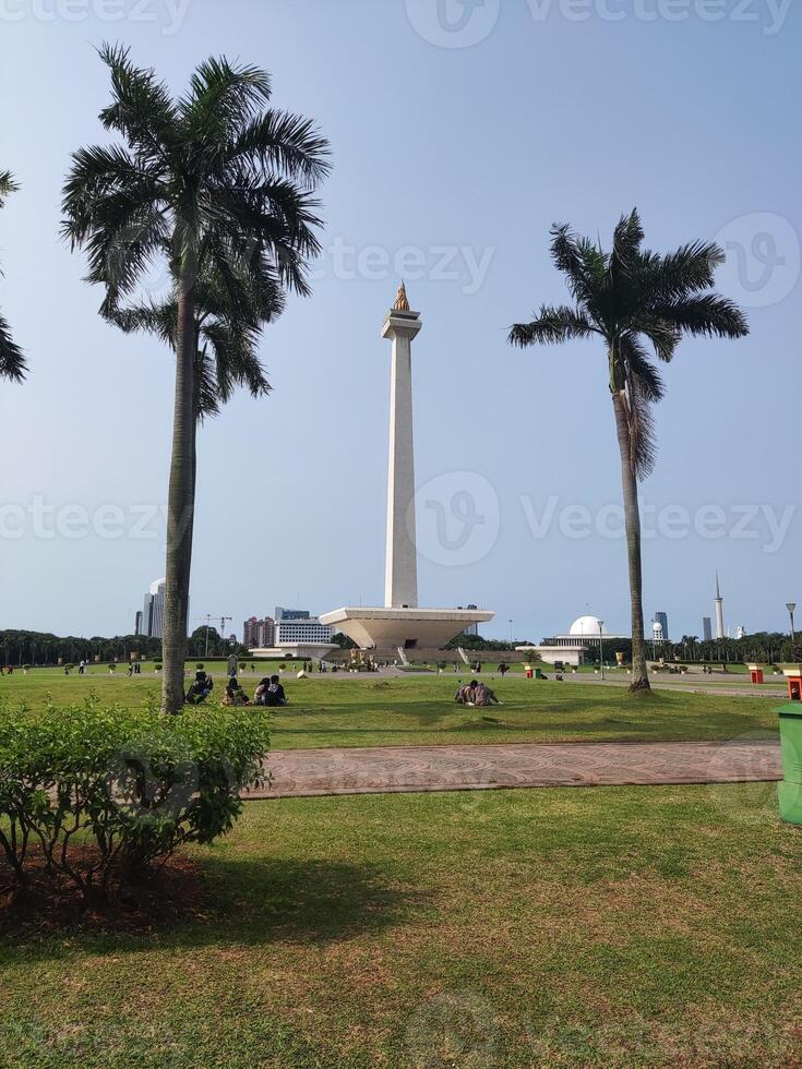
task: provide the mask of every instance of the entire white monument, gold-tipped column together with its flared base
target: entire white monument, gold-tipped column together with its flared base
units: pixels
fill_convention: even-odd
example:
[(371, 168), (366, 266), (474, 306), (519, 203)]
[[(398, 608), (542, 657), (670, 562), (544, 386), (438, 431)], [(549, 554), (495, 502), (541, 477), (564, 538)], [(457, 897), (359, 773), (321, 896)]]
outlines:
[[(412, 440), (412, 339), (420, 313), (409, 309), (404, 283), (382, 327), (392, 346), (390, 377), (390, 458), (387, 467), (387, 545), (384, 606), (349, 605), (321, 616), (362, 649), (405, 657), (405, 650), (442, 649), (471, 624), (487, 623), (487, 609), (419, 609), (415, 529), (415, 448)], [(445, 431), (444, 431), (445, 433)]]

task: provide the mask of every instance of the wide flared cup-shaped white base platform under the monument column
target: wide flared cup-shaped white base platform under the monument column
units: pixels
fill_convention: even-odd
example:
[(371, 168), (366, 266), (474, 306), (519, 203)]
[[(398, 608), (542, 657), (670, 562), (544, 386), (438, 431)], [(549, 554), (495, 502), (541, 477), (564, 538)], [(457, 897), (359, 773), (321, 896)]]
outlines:
[(364, 609), (348, 606), (320, 621), (352, 638), (360, 649), (442, 649), (470, 624), (495, 615), (487, 609)]

